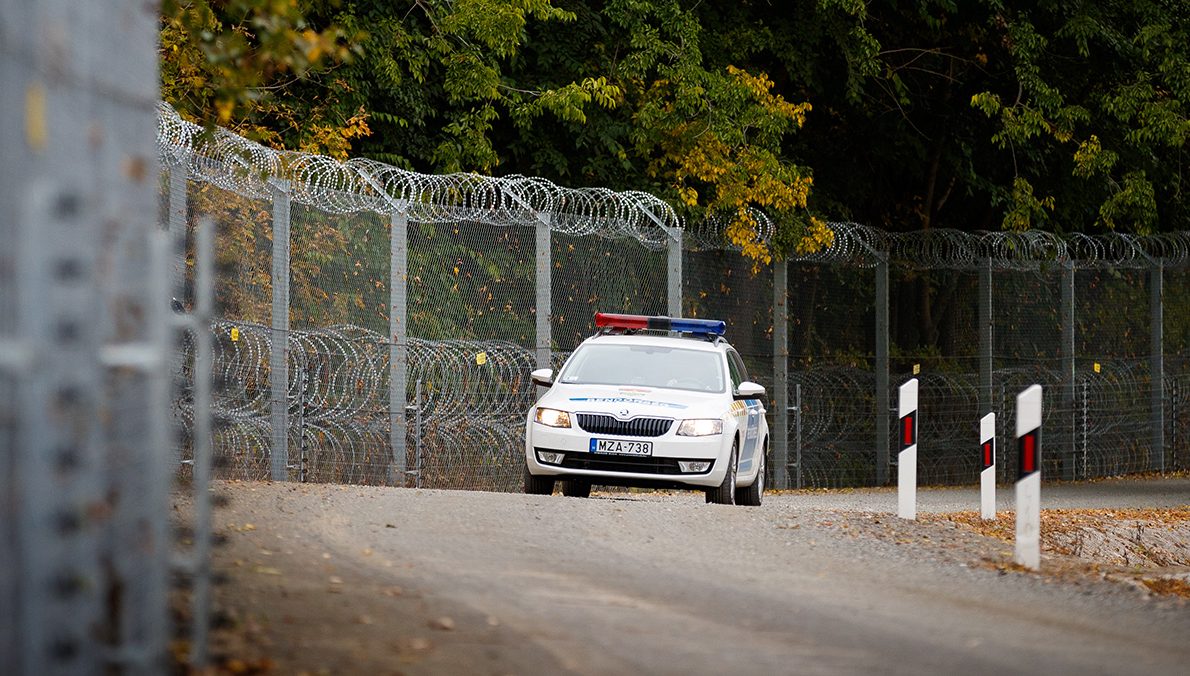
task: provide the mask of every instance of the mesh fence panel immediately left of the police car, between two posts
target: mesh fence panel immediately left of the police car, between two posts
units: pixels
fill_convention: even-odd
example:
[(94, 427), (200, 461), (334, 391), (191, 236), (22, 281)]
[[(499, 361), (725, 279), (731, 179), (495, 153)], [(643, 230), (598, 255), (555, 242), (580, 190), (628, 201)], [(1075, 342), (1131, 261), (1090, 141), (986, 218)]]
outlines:
[(418, 486), (509, 490), (532, 387), (536, 233), (482, 223), (409, 232), (411, 467)]

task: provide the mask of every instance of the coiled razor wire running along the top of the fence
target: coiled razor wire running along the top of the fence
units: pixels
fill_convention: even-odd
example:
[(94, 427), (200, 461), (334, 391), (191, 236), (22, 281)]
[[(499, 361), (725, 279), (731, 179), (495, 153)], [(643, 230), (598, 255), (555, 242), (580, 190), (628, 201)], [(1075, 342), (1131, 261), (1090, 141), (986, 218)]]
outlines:
[[(253, 198), (271, 199), (287, 184), (294, 201), (331, 213), (405, 211), (420, 223), (484, 223), (536, 225), (545, 219), (557, 232), (634, 239), (660, 250), (666, 230), (683, 227), (663, 200), (644, 192), (565, 188), (528, 176), (478, 174), (427, 175), (367, 158), (339, 162), (331, 157), (265, 148), (225, 129), (206, 130), (158, 104), (158, 154), (167, 165), (184, 165), (192, 179)], [(286, 183), (278, 183), (284, 181)], [(757, 239), (770, 244), (772, 219), (750, 209)], [(734, 214), (712, 215), (685, 230), (688, 250), (739, 249), (726, 236)], [(1044, 264), (1075, 268), (1152, 268), (1190, 264), (1190, 232), (1151, 236), (927, 230), (887, 232), (856, 223), (829, 223), (833, 243), (813, 254), (794, 254), (794, 262), (848, 264), (862, 268), (887, 259), (916, 269), (1029, 270)]]

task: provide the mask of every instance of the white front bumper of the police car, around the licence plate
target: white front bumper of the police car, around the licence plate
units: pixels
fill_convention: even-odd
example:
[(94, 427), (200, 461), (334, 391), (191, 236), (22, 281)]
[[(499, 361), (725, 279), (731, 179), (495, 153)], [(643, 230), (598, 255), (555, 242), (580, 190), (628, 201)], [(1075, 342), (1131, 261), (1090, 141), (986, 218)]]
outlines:
[[(615, 456), (590, 452), (590, 440), (622, 438), (652, 443), (652, 455), (646, 457)], [(543, 462), (540, 453), (562, 453), (557, 463)], [(577, 428), (559, 430), (528, 422), (525, 434), (525, 464), (531, 474), (562, 477), (588, 477), (593, 483), (616, 486), (674, 484), (714, 488), (727, 472), (731, 443), (726, 434), (708, 437), (678, 437), (669, 432), (660, 437), (614, 437), (591, 434)], [(679, 461), (708, 461), (710, 468), (701, 472), (682, 471)]]

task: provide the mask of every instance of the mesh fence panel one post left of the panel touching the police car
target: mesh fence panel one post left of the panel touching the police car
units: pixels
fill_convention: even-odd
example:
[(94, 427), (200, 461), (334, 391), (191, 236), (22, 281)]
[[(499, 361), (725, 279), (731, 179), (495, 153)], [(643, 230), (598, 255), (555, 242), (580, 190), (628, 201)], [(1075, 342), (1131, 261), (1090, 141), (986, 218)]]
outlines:
[(299, 481), (389, 481), (389, 218), (290, 207), (289, 465)]

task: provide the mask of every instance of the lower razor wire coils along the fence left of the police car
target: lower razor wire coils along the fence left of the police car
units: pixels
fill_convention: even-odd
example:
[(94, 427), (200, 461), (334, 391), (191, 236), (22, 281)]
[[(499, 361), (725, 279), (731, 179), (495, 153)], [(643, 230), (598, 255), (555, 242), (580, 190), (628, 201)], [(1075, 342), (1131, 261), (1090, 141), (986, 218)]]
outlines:
[[(219, 421), (215, 455), (227, 476), (268, 478), (273, 333), (267, 326), (227, 320), (213, 323), (212, 332), (217, 393), (213, 415)], [(384, 337), (339, 325), (293, 331), (287, 339), (290, 447), (306, 450), (308, 463), (303, 469), (315, 481), (383, 482), (390, 461), (392, 420), (389, 344)], [(409, 402), (422, 420), (426, 462), (439, 475), (457, 474), (468, 462), (489, 467), (521, 462), (513, 456), (524, 434), (525, 412), (536, 394), (528, 377), (536, 364), (532, 350), (505, 340), (418, 338), (411, 338), (406, 348), (407, 393), (420, 394), (420, 399), (409, 396)], [(187, 364), (182, 374), (186, 387), (176, 403), (177, 418), (186, 428), (194, 420), (189, 396), (193, 357), (193, 342), (187, 340), (182, 358)], [(459, 453), (478, 457), (464, 458)], [(509, 475), (509, 481), (519, 478), (519, 474), (512, 474), (516, 476)], [(474, 484), (476, 477), (466, 481)]]

